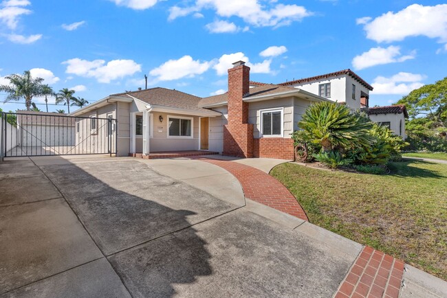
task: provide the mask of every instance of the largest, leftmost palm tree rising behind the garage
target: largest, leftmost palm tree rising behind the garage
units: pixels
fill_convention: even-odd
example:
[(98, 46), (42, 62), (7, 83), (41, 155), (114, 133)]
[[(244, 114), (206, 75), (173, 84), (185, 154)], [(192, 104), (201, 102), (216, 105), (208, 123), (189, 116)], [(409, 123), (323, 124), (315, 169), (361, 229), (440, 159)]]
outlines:
[(30, 71), (24, 71), (23, 75), (12, 74), (5, 78), (10, 81), (8, 85), (0, 85), (0, 91), (8, 93), (5, 102), (25, 99), (26, 110), (30, 111), (32, 98), (43, 95), (43, 78), (33, 78)]

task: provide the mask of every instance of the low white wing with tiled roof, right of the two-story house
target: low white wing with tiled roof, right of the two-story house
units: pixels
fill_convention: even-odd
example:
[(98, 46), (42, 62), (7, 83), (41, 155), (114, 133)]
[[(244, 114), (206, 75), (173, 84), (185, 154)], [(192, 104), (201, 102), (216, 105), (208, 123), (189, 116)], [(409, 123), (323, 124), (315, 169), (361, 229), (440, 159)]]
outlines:
[(395, 106), (373, 106), (367, 108), (366, 111), (371, 121), (387, 126), (396, 135), (400, 135), (402, 139), (406, 138), (405, 119), (408, 118), (408, 112), (403, 104), (397, 104)]

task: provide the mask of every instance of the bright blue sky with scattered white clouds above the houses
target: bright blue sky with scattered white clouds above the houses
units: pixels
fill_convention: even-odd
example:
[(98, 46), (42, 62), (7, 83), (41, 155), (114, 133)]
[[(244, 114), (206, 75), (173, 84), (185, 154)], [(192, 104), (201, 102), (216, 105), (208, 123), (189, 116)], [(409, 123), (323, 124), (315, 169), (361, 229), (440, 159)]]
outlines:
[[(144, 74), (149, 87), (219, 93), (230, 63), (243, 59), (259, 82), (350, 68), (375, 87), (370, 104), (387, 105), (447, 76), (447, 4), (8, 0), (0, 4), (0, 49), (0, 84), (32, 69), (89, 102), (144, 87)], [(24, 107), (0, 103), (4, 111)]]

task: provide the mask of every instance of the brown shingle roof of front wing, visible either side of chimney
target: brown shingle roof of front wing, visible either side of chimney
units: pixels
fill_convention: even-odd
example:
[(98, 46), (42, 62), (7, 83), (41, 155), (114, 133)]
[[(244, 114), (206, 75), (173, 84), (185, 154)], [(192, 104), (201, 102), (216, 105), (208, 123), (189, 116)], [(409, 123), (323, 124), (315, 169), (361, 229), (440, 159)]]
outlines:
[[(250, 84), (251, 83), (252, 82), (250, 82)], [(259, 84), (259, 86), (250, 88), (249, 91), (250, 93), (243, 97), (244, 100), (250, 99), (255, 96), (273, 95), (276, 93), (283, 93), (287, 91), (297, 91), (297, 89), (294, 87), (286, 87), (286, 86), (264, 84), (264, 83), (257, 83), (257, 84)], [(228, 102), (228, 92), (220, 95), (210, 96), (208, 98), (202, 98), (199, 102), (199, 106), (212, 106), (215, 104), (226, 104), (227, 102)]]

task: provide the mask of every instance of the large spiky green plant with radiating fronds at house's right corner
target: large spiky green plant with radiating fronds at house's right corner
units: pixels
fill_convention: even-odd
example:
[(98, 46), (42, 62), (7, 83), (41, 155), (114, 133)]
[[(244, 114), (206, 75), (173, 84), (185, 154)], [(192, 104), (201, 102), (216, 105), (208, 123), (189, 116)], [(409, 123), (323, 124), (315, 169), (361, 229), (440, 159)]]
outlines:
[(312, 104), (298, 122), (298, 127), (307, 132), (310, 141), (322, 146), (325, 152), (373, 144), (375, 139), (369, 133), (371, 126), (371, 122), (336, 102)]

